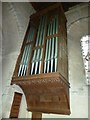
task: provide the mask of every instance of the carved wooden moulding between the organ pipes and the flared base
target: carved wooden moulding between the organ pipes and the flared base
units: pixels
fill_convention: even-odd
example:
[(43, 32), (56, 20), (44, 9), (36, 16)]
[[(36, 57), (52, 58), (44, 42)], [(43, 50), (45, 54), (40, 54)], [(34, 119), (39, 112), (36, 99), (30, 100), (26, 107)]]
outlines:
[(31, 80), (39, 80), (39, 79), (60, 79), (62, 80), (65, 84), (67, 84), (68, 87), (70, 87), (70, 83), (59, 73), (59, 72), (53, 72), (53, 73), (42, 73), (42, 74), (36, 74), (36, 75), (31, 75), (31, 76), (22, 76), (22, 77), (13, 77), (12, 78), (12, 82), (11, 85), (18, 82), (25, 82), (25, 84), (27, 84), (27, 82), (30, 82)]

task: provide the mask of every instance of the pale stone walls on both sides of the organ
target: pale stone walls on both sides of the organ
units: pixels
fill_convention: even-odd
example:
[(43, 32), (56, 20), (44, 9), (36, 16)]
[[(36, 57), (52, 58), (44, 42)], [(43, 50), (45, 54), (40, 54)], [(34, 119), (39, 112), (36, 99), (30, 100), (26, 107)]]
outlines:
[[(18, 86), (10, 86), (10, 81), (29, 15), (33, 12), (30, 3), (3, 3), (3, 117), (9, 117), (14, 91), (22, 92)], [(71, 115), (43, 114), (43, 118), (88, 117), (88, 87), (85, 84), (80, 48), (80, 38), (87, 34), (88, 24), (87, 18), (85, 18), (88, 17), (87, 4), (72, 8), (66, 13), (66, 17)], [(31, 116), (26, 109), (25, 97), (23, 97), (19, 117), (29, 118)]]

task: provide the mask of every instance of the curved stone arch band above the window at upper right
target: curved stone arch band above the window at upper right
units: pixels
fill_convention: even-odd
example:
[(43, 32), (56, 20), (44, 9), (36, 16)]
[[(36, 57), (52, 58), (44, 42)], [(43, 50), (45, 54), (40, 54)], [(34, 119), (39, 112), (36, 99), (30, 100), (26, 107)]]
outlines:
[(78, 20), (90, 17), (89, 14), (90, 3), (81, 3), (75, 7), (71, 7), (69, 11), (65, 13), (67, 17), (67, 28)]

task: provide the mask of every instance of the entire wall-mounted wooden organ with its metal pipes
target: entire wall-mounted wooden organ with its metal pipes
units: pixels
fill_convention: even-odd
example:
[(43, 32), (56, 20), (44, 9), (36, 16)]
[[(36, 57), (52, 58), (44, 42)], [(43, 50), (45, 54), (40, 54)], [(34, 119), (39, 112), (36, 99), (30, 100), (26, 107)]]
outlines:
[(11, 84), (31, 112), (70, 114), (66, 18), (60, 3), (30, 17)]

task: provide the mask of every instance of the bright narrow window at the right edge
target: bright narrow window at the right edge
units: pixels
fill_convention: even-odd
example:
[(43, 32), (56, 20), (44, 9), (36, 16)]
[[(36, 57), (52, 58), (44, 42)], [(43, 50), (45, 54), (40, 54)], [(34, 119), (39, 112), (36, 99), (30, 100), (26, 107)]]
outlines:
[(81, 38), (81, 49), (85, 66), (86, 84), (90, 85), (90, 35)]

